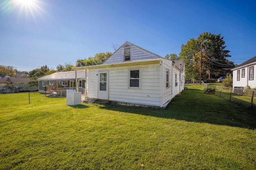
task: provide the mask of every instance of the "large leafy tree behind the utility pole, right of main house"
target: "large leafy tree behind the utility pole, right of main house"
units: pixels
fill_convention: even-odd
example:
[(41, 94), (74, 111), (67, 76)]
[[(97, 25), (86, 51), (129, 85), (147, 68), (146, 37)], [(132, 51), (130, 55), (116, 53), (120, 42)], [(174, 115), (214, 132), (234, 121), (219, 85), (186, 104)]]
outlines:
[[(185, 60), (186, 77), (198, 80), (202, 62), (202, 75), (208, 74), (210, 70), (217, 70), (226, 66), (227, 57), (231, 57), (226, 50), (224, 37), (220, 34), (204, 32), (197, 39), (190, 39), (185, 45), (182, 44), (180, 59)], [(202, 61), (201, 61), (202, 44)]]

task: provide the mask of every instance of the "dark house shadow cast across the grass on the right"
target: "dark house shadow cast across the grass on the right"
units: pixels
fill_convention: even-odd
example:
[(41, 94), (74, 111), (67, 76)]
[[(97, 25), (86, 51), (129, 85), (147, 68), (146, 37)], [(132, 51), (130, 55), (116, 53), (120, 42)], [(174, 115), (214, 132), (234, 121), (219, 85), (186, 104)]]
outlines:
[(187, 89), (176, 96), (164, 110), (104, 105), (104, 109), (147, 115), (166, 119), (210, 123), (256, 129), (256, 115), (243, 110), (236, 103), (218, 96), (204, 94), (203, 90)]

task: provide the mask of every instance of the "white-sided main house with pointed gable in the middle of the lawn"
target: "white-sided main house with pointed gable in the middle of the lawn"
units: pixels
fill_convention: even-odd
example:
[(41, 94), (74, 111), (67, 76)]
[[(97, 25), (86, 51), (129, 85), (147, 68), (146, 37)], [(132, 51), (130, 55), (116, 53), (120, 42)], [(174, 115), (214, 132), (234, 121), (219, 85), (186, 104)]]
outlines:
[(126, 42), (104, 63), (86, 70), (86, 99), (165, 108), (184, 89), (184, 60), (170, 61)]

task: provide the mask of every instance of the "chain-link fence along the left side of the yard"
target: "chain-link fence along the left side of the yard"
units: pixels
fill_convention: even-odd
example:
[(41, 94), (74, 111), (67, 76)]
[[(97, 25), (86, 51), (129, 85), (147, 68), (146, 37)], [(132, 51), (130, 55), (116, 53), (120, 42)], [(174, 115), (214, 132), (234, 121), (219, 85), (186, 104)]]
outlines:
[[(82, 93), (81, 101), (83, 101), (85, 99), (85, 90), (79, 89), (78, 92)], [(55, 98), (66, 100), (66, 90), (0, 94), (0, 107), (20, 106), (40, 102), (50, 104), (56, 101), (54, 100)]]

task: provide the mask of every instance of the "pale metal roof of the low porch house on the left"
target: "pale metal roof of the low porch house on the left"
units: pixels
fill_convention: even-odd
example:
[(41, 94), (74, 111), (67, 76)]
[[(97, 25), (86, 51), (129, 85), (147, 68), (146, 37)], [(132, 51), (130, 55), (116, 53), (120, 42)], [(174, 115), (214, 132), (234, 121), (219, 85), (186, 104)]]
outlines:
[[(85, 78), (85, 71), (77, 71), (77, 78)], [(75, 71), (66, 71), (66, 72), (55, 72), (53, 74), (37, 78), (36, 80), (43, 81), (67, 81), (67, 80), (75, 80), (76, 72)]]

